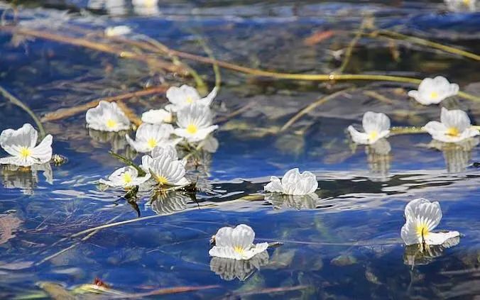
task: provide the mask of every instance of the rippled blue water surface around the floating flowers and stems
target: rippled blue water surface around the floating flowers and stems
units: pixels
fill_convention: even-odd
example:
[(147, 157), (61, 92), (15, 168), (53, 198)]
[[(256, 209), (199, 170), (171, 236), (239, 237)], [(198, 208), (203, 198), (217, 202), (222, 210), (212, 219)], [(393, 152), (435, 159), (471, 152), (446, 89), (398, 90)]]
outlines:
[[(106, 4), (92, 7), (86, 0), (18, 2), (17, 21), (27, 28), (88, 37), (126, 24), (174, 49), (204, 55), (202, 40), (217, 59), (278, 72), (333, 72), (342, 64), (335, 50), (347, 47), (366, 17), (374, 18), (378, 28), (480, 52), (480, 14), (448, 13), (437, 1), (163, 1), (149, 16), (134, 11), (129, 1), (116, 10)], [(6, 21), (13, 20), (10, 5), (0, 1)], [(312, 34), (327, 31), (332, 31), (329, 38), (312, 45)], [(0, 49), (1, 87), (39, 116), (160, 82), (189, 80), (143, 62), (5, 30), (0, 31)], [(210, 65), (188, 63), (214, 86)], [(442, 74), (462, 91), (479, 95), (478, 70), (478, 62), (457, 55), (404, 41), (361, 38), (345, 72), (418, 78)], [(438, 106), (408, 99), (406, 91), (413, 87), (298, 82), (222, 70), (222, 89), (214, 102), (219, 148), (200, 153), (201, 166), (190, 171), (199, 187), (212, 192), (158, 199), (144, 194), (138, 207), (119, 199), (119, 192), (97, 188), (98, 179), (121, 166), (109, 150), (140, 158), (124, 138), (87, 130), (84, 113), (46, 122), (54, 152), (68, 162), (38, 170), (1, 169), (0, 298), (48, 297), (39, 282), (72, 290), (95, 277), (125, 293), (218, 286), (170, 295), (189, 299), (479, 296), (476, 143), (437, 149), (430, 135), (395, 135), (388, 138), (389, 145), (381, 145), (391, 147), (385, 155), (381, 149), (354, 147), (346, 133), (351, 123), (361, 123), (365, 111), (387, 113), (393, 126), (423, 126), (439, 119)], [(278, 133), (300, 109), (342, 89), (349, 91)], [(160, 94), (126, 103), (141, 113), (165, 101)], [(463, 109), (472, 123), (479, 123), (476, 102), (449, 99), (442, 106)], [(0, 130), (32, 122), (5, 99), (0, 119)], [(265, 198), (261, 193), (269, 177), (292, 167), (317, 175), (317, 199)], [(459, 230), (462, 238), (432, 257), (417, 257), (412, 266), (400, 228), (405, 204), (418, 197), (440, 201), (444, 216), (439, 227)], [(138, 213), (162, 216), (99, 230), (85, 240), (86, 235), (69, 238)], [(255, 262), (232, 265), (210, 258), (209, 238), (218, 228), (239, 223), (249, 224), (258, 240), (283, 245)], [(58, 291), (50, 296), (63, 298)]]

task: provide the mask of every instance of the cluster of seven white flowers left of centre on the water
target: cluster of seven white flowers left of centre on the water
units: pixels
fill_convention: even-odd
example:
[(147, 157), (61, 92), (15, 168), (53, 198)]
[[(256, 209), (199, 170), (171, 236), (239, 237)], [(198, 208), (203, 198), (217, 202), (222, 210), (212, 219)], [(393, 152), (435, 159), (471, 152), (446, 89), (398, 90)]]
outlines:
[[(111, 187), (130, 188), (155, 181), (156, 184), (183, 186), (189, 184), (185, 179), (186, 161), (178, 159), (175, 145), (185, 140), (187, 143), (212, 144), (210, 133), (218, 126), (213, 125), (214, 114), (210, 104), (217, 95), (214, 89), (207, 97), (201, 98), (198, 91), (187, 85), (170, 87), (166, 96), (170, 104), (163, 109), (151, 109), (142, 114), (135, 139), (125, 134), (131, 148), (139, 153), (148, 153), (141, 159), (141, 170), (146, 176), (138, 177), (138, 170), (124, 167), (110, 175), (102, 184)], [(176, 119), (177, 128), (172, 123)], [(94, 130), (119, 132), (129, 130), (129, 118), (116, 103), (100, 101), (97, 107), (86, 114), (87, 127)], [(173, 137), (176, 135), (176, 138)]]

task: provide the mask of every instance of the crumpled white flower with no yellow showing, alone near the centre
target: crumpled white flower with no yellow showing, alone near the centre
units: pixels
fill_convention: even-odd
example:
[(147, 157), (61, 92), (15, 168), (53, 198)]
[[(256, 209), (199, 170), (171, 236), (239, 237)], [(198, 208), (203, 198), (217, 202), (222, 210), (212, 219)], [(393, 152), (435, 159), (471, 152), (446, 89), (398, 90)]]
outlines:
[(300, 174), (298, 168), (289, 170), (283, 175), (282, 180), (276, 176), (270, 177), (268, 183), (263, 189), (271, 193), (282, 193), (285, 195), (307, 195), (312, 194), (318, 188), (317, 177), (312, 172), (303, 172)]

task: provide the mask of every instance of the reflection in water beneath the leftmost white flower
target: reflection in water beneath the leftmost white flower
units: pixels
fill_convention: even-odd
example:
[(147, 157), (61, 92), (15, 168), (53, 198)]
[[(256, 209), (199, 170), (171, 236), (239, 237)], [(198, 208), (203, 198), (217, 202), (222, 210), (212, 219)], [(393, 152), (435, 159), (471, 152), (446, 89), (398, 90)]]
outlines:
[(50, 163), (31, 167), (3, 166), (1, 167), (1, 179), (6, 189), (21, 189), (23, 194), (31, 195), (38, 184), (37, 172), (43, 172), (45, 182), (53, 184), (53, 171)]

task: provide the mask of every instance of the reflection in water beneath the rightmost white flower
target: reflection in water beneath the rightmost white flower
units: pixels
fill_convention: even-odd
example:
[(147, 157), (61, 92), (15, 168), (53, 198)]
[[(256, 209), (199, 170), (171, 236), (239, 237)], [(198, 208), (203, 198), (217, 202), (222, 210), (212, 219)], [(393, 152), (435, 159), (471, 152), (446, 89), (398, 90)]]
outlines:
[(480, 138), (469, 138), (459, 143), (443, 143), (438, 140), (432, 140), (430, 148), (435, 148), (443, 152), (447, 172), (464, 172), (471, 159), (471, 150), (479, 145)]

